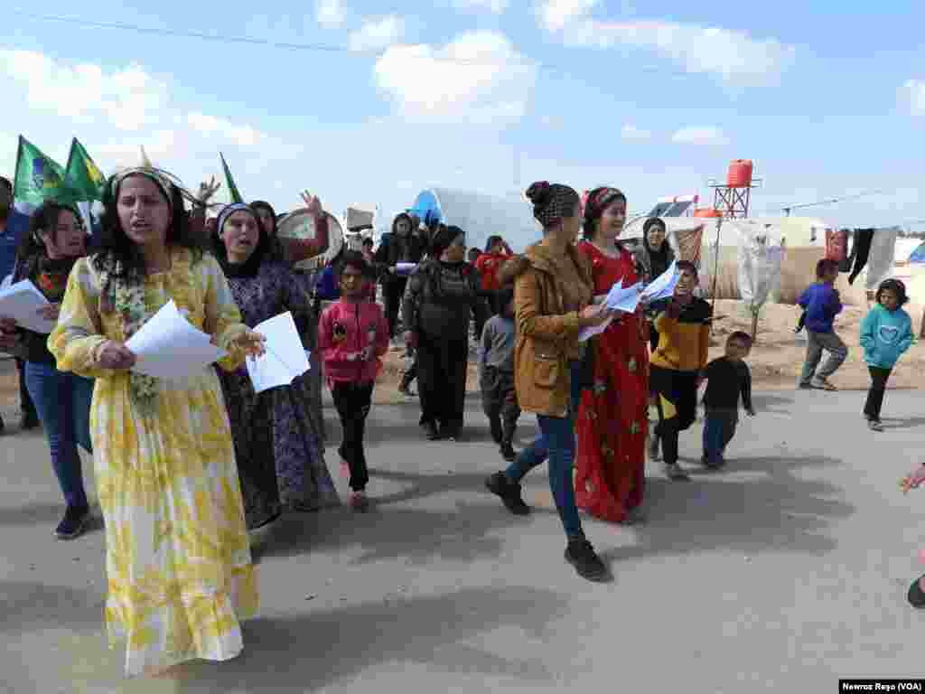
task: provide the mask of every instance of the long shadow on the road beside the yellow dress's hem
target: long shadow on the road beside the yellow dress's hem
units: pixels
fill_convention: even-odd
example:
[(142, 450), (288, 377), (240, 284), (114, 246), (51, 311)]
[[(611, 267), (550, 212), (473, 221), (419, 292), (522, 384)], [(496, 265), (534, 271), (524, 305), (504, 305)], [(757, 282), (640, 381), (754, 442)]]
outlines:
[(549, 590), (510, 587), (263, 618), (245, 623), (238, 658), (183, 666), (173, 691), (302, 694), (350, 682), (379, 663), (549, 685), (555, 675), (542, 658), (507, 659), (466, 641), (499, 627), (541, 639), (567, 611), (567, 599)]

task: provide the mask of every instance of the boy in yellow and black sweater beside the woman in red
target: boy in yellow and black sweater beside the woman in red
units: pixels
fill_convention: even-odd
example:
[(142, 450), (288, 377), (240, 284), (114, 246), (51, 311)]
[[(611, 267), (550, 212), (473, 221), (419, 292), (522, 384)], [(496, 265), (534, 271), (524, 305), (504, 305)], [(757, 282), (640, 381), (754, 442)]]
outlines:
[(680, 277), (672, 303), (655, 319), (659, 346), (652, 353), (650, 390), (655, 393), (659, 424), (649, 440), (649, 457), (664, 456), (669, 479), (687, 479), (678, 465), (678, 435), (697, 420), (697, 388), (700, 372), (707, 366), (710, 305), (694, 296), (697, 266), (678, 263)]

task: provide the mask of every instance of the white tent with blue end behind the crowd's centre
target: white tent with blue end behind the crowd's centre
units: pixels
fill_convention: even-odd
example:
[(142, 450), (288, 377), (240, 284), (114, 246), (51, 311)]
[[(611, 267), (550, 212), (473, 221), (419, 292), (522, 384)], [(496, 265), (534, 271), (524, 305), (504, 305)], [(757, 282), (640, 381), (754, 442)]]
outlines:
[(484, 249), (489, 236), (498, 234), (512, 251), (520, 253), (542, 238), (533, 208), (520, 195), (498, 197), (483, 192), (429, 188), (418, 194), (412, 211), (429, 224), (439, 221), (465, 231), (466, 245)]

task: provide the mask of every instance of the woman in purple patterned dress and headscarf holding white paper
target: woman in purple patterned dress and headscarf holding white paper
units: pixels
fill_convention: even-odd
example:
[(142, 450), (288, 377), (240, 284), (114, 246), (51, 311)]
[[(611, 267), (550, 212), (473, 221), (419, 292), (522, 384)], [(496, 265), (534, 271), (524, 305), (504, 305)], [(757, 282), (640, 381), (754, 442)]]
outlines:
[[(218, 217), (218, 262), (248, 326), (290, 311), (299, 334), (316, 320), (290, 267), (269, 253), (253, 209), (229, 204)], [(309, 412), (309, 374), (292, 385), (254, 393), (247, 367), (220, 374), (231, 419), (248, 529), (276, 520), (283, 508), (314, 511), (339, 504), (327, 471), (317, 416)], [(267, 454), (272, 452), (272, 454)]]

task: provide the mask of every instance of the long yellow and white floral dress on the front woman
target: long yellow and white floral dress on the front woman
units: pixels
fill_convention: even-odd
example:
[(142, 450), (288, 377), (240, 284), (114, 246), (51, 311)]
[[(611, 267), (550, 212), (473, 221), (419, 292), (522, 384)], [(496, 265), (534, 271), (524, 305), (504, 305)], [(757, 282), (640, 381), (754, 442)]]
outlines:
[[(257, 611), (256, 575), (244, 525), (228, 412), (212, 366), (182, 386), (157, 381), (156, 414), (142, 416), (129, 377), (94, 366), (94, 348), (124, 341), (122, 320), (100, 310), (103, 279), (89, 258), (71, 271), (48, 347), (61, 371), (95, 378), (90, 428), (106, 533), (110, 647), (128, 641), (128, 675), (242, 648), (239, 619)], [(196, 328), (228, 351), (245, 329), (221, 268), (171, 250), (171, 269), (148, 276), (145, 303), (173, 299)]]

